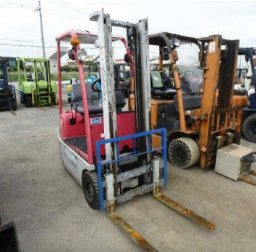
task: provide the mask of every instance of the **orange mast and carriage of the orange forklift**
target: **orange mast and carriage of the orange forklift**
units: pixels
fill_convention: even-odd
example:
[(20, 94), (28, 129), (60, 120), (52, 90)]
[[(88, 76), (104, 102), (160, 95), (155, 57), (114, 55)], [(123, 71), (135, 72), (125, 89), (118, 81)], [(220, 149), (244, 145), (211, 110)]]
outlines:
[(243, 106), (233, 104), (239, 41), (225, 40), (220, 35), (202, 41), (207, 54), (201, 62), (205, 81), (199, 150), (201, 168), (209, 168), (215, 163), (216, 149), (239, 143)]

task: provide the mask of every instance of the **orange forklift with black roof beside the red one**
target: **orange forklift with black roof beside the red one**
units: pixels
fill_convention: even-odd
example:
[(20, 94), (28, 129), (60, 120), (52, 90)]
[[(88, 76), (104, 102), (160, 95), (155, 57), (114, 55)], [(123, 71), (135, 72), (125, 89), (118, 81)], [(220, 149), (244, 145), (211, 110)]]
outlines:
[[(184, 43), (199, 50), (203, 83), (196, 92), (184, 90), (176, 67), (176, 49)], [(167, 129), (168, 157), (175, 166), (199, 163), (202, 169), (213, 168), (217, 149), (240, 141), (247, 97), (233, 95), (239, 41), (164, 32), (150, 35), (149, 44), (159, 48), (158, 71), (151, 71), (151, 128)], [(161, 76), (163, 60), (169, 60), (171, 80)], [(153, 146), (160, 142), (161, 137), (154, 135)]]

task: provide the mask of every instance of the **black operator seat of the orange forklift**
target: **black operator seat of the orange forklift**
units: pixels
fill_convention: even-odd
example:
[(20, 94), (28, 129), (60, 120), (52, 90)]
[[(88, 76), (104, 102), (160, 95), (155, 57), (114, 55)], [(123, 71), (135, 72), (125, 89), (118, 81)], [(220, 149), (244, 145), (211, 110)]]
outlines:
[(156, 99), (173, 99), (176, 90), (165, 87), (159, 71), (150, 71), (151, 96)]

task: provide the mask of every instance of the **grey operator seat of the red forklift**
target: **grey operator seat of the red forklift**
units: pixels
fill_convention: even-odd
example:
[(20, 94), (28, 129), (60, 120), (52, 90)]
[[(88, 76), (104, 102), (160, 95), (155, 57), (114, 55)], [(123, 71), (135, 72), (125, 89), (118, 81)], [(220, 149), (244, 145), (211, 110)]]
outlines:
[[(94, 92), (90, 85), (86, 86), (87, 101), (89, 107), (89, 114), (96, 115), (103, 113), (102, 101), (99, 93)], [(125, 106), (125, 98), (122, 91), (115, 91), (116, 95), (116, 112), (122, 112), (122, 108)], [(84, 114), (84, 107), (82, 102), (82, 93), (80, 84), (72, 85), (71, 104), (74, 109), (81, 115)]]

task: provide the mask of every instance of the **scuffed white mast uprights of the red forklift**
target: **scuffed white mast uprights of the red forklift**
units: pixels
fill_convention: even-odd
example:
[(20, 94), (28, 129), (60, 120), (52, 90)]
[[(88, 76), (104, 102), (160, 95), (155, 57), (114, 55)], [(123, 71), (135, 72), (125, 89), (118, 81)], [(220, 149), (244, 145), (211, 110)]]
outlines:
[[(111, 20), (103, 11), (93, 13), (91, 20), (98, 22), (98, 47), (100, 49), (102, 99), (104, 115), (104, 137), (105, 139), (117, 136), (116, 101), (114, 85), (114, 66), (112, 58), (112, 26), (127, 29), (128, 46), (134, 55), (129, 60), (133, 61), (135, 71), (135, 115), (136, 132), (144, 132), (150, 129), (150, 76), (149, 76), (149, 50), (148, 50), (148, 24), (147, 19), (139, 21), (138, 24)], [(108, 122), (108, 123), (106, 123)], [(144, 141), (137, 141), (139, 151), (146, 149)], [(106, 144), (106, 157), (115, 156), (116, 149), (113, 145)], [(150, 160), (147, 160), (149, 162)], [(141, 160), (145, 163), (145, 160)]]

